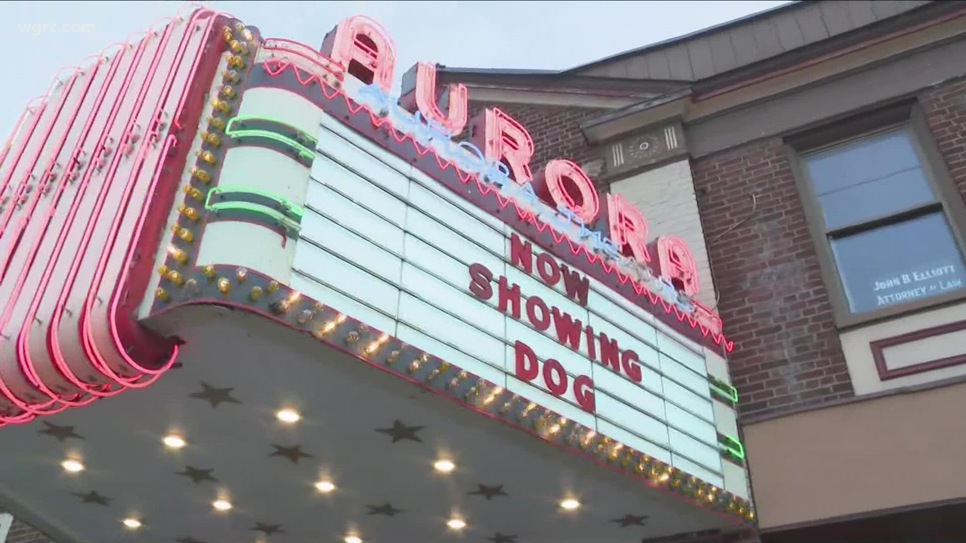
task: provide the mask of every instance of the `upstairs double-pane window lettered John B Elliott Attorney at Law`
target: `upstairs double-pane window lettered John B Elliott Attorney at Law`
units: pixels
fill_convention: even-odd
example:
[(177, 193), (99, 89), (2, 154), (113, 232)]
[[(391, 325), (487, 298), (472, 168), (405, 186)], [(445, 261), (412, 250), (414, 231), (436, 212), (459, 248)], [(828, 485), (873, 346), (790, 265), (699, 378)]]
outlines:
[(800, 188), (840, 325), (966, 296), (955, 223), (962, 200), (948, 179), (937, 179), (931, 166), (943, 162), (930, 157), (922, 133), (906, 117), (797, 147)]

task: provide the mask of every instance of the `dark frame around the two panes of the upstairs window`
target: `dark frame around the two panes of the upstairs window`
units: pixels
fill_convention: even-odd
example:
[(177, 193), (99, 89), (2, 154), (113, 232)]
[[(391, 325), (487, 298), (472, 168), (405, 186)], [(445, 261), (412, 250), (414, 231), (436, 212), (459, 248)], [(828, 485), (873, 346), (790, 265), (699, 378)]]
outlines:
[[(912, 206), (909, 209), (886, 214), (835, 229), (826, 229), (821, 204), (815, 194), (814, 186), (806, 173), (803, 157), (811, 153), (827, 150), (875, 133), (905, 127), (909, 130), (913, 149), (920, 158), (923, 174), (932, 188), (934, 201)], [(921, 312), (927, 309), (948, 305), (955, 301), (966, 300), (966, 287), (947, 294), (896, 303), (868, 311), (852, 312), (842, 276), (838, 272), (831, 238), (841, 238), (851, 233), (867, 231), (878, 226), (894, 224), (914, 216), (941, 211), (946, 217), (952, 238), (966, 259), (966, 204), (959, 194), (939, 151), (939, 146), (929, 130), (919, 104), (906, 101), (878, 111), (844, 119), (830, 126), (810, 129), (784, 139), (785, 154), (788, 157), (795, 186), (809, 223), (812, 243), (818, 253), (819, 268), (829, 293), (836, 324), (839, 329), (853, 328), (900, 315)]]

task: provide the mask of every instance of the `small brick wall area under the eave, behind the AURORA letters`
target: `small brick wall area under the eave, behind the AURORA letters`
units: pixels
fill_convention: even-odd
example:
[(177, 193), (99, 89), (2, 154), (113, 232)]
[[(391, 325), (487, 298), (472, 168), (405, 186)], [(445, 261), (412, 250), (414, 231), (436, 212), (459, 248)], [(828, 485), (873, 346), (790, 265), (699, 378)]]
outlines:
[(603, 160), (598, 157), (598, 151), (587, 147), (580, 124), (584, 119), (608, 111), (607, 109), (571, 105), (471, 102), (469, 118), (483, 107), (498, 107), (512, 115), (530, 132), (536, 148), (530, 160), (533, 175), (542, 170), (551, 158), (563, 157), (581, 164), (592, 179), (600, 177)]

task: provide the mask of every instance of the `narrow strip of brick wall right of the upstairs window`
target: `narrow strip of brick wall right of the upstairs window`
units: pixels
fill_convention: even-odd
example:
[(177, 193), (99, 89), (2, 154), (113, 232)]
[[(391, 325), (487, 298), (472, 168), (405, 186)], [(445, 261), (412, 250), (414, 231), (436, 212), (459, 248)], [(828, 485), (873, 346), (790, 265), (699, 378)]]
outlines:
[(936, 85), (919, 100), (952, 181), (966, 200), (966, 78)]

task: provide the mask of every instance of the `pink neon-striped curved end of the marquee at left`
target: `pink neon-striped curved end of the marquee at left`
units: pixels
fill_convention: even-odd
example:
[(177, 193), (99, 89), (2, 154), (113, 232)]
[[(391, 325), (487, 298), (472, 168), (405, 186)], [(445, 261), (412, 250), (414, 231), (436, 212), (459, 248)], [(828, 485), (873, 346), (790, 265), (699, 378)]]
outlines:
[(0, 149), (0, 425), (174, 362), (177, 344), (135, 322), (130, 285), (151, 272), (194, 135), (173, 120), (196, 126), (185, 107), (211, 85), (227, 20), (199, 9), (109, 46), (28, 104)]

